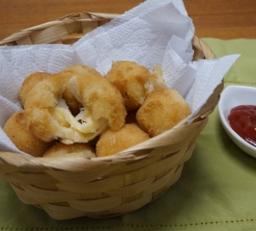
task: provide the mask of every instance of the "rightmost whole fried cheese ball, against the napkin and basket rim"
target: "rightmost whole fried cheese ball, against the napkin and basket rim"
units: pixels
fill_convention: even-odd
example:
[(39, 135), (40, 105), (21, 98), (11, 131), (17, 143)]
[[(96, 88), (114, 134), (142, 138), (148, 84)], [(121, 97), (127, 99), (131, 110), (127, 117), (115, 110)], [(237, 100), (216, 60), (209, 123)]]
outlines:
[(178, 124), (190, 115), (190, 107), (183, 96), (173, 89), (151, 92), (137, 112), (139, 127), (155, 137)]

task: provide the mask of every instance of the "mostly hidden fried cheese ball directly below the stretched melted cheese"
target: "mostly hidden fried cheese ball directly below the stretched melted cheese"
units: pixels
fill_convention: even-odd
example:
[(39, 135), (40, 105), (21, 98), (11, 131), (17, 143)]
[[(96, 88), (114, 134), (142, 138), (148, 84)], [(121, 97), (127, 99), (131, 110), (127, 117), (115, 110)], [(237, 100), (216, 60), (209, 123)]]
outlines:
[(43, 157), (96, 157), (94, 148), (88, 143), (74, 142), (65, 144), (57, 142), (44, 152)]

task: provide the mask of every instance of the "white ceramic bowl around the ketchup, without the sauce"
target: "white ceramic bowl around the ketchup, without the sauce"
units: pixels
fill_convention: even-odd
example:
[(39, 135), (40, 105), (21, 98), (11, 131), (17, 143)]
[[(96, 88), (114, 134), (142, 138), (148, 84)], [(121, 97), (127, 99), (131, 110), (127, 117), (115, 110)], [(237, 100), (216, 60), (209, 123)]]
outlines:
[(222, 91), (218, 102), (220, 121), (230, 139), (256, 158), (256, 147), (244, 141), (229, 125), (230, 110), (239, 105), (256, 105), (256, 88), (230, 85)]

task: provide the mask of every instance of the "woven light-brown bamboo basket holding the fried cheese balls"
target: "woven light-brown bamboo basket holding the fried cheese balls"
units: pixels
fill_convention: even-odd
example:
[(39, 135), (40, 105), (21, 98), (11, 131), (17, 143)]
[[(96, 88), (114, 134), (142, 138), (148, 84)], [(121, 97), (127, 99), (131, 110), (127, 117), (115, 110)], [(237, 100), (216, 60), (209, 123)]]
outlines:
[[(71, 44), (116, 14), (77, 13), (22, 30), (1, 45)], [(194, 60), (214, 59), (201, 39), (192, 40)], [(43, 209), (51, 218), (108, 218), (141, 208), (181, 176), (195, 141), (216, 106), (223, 84), (202, 110), (173, 129), (110, 157), (35, 158), (0, 152), (0, 178), (18, 198)]]

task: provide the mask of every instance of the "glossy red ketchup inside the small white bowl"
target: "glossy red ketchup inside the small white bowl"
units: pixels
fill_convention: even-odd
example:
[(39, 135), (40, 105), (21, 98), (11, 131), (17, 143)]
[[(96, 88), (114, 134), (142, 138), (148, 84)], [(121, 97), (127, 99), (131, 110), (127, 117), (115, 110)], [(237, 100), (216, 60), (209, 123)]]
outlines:
[(240, 105), (233, 108), (228, 120), (232, 129), (244, 141), (256, 146), (256, 105)]

